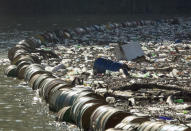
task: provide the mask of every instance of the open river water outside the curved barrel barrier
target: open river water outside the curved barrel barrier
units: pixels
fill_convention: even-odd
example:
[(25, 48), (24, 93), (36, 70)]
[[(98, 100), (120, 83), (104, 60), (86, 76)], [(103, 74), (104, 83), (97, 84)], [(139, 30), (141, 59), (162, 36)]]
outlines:
[[(18, 41), (46, 30), (73, 28), (91, 24), (136, 19), (129, 16), (1, 16), (0, 60)], [(139, 17), (146, 18), (146, 17)], [(4, 76), (0, 66), (0, 131), (77, 130), (71, 125), (56, 123), (55, 114), (23, 81)]]

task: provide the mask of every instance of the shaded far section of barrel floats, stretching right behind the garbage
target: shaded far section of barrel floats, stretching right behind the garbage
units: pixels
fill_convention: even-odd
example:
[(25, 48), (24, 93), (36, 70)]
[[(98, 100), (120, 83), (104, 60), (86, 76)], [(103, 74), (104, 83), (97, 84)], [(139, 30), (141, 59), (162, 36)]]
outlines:
[(108, 23), (105, 25), (92, 25), (87, 27), (77, 27), (75, 29), (63, 29), (63, 30), (55, 30), (49, 31), (45, 33), (41, 33), (36, 35), (35, 37), (30, 38), (32, 41), (35, 41), (37, 45), (46, 45), (47, 43), (62, 43), (65, 39), (75, 39), (75, 36), (89, 34), (91, 32), (105, 32), (107, 30), (113, 30), (117, 28), (131, 28), (138, 26), (146, 26), (146, 25), (157, 25), (161, 23), (169, 23), (169, 24), (178, 24), (179, 19), (158, 19), (158, 20), (140, 20), (140, 21), (126, 21), (122, 23)]

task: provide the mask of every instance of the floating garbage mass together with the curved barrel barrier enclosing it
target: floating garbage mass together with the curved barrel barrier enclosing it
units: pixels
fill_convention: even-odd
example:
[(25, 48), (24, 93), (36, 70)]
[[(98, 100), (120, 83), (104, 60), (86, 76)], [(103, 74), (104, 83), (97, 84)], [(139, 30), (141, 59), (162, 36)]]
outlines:
[(5, 74), (24, 79), (58, 121), (80, 129), (190, 131), (190, 20), (39, 34), (9, 50)]

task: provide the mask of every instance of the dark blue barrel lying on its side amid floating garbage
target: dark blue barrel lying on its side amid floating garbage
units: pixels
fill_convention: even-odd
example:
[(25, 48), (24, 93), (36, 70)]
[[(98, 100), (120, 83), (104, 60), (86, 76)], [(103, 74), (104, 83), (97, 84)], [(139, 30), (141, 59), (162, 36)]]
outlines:
[(119, 71), (123, 67), (122, 63), (114, 62), (109, 59), (98, 58), (94, 62), (94, 70), (96, 73), (105, 73), (106, 70)]

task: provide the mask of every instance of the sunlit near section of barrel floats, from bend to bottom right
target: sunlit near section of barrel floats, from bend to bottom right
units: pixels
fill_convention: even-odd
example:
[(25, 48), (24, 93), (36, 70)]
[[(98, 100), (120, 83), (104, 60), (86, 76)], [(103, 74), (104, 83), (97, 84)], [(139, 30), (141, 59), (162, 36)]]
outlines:
[(38, 90), (50, 110), (57, 112), (57, 121), (76, 124), (85, 131), (191, 131), (184, 125), (156, 122), (112, 107), (91, 88), (73, 86), (46, 71), (31, 55), (41, 46), (41, 40), (28, 38), (11, 48), (8, 52), (11, 65), (5, 74), (23, 79), (33, 90)]

